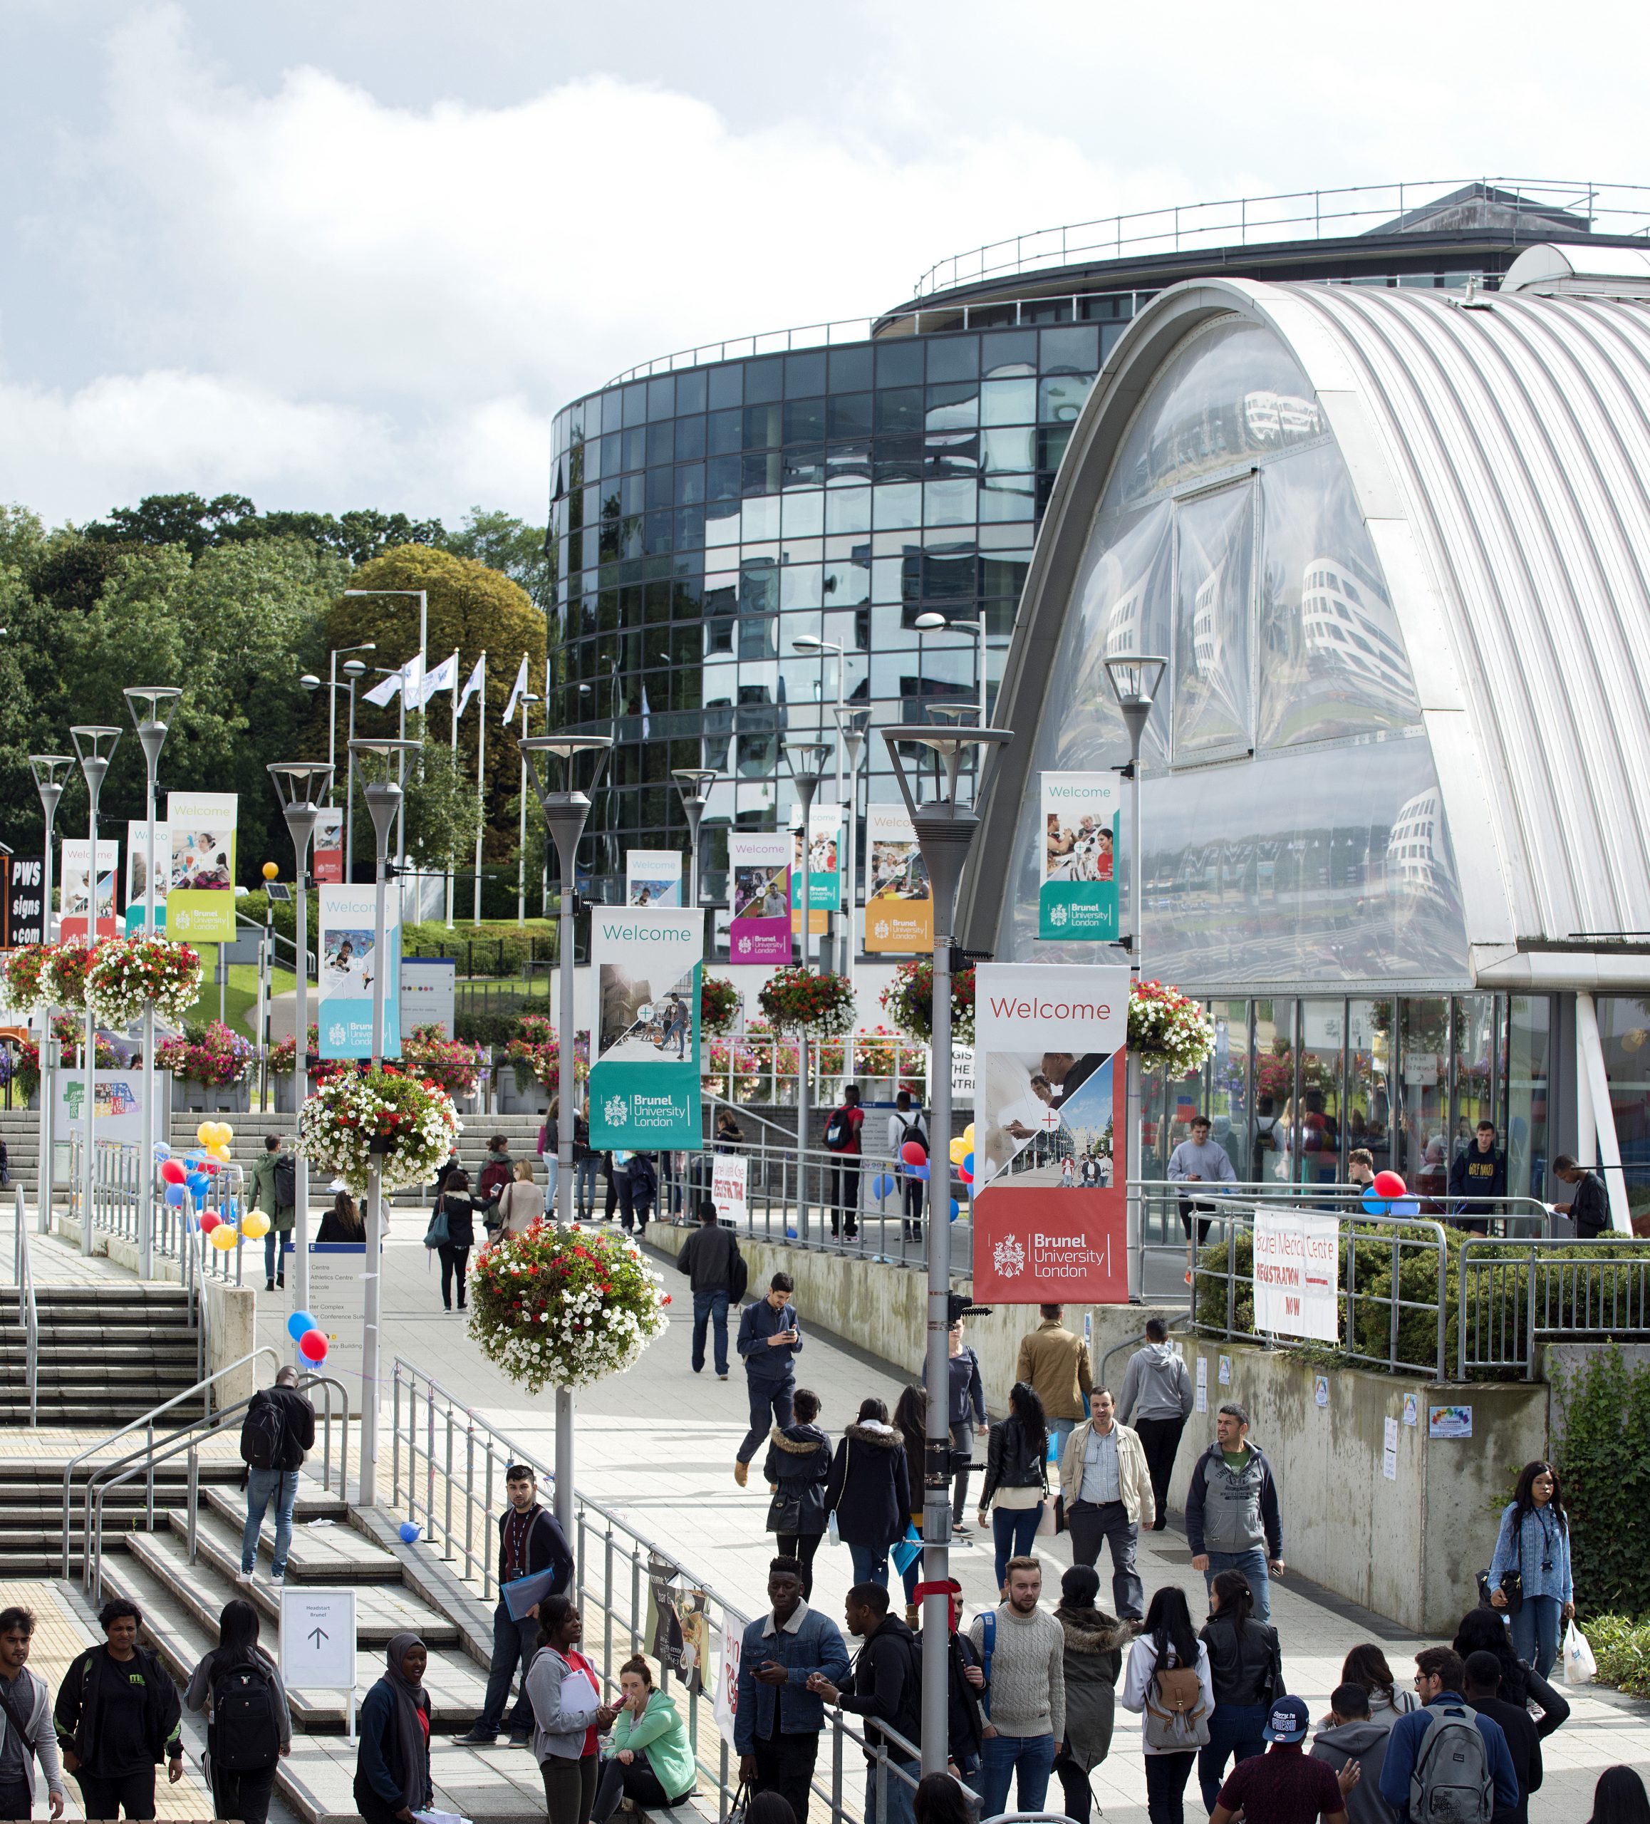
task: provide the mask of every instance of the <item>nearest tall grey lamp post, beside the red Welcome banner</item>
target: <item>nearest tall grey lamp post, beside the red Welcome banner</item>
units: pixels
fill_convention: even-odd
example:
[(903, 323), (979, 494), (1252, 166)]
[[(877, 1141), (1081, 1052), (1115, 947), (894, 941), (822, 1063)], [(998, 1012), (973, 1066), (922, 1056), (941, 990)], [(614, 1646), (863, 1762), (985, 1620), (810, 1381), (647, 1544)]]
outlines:
[[(933, 1118), (928, 1129), (928, 1348), (926, 1379), (930, 1388), (948, 1384), (950, 1366), (950, 1293), (952, 1293), (952, 939), (957, 912), (957, 883), (963, 863), (979, 832), (979, 777), (974, 773), (974, 803), (961, 799), (963, 755), (977, 748), (1003, 748), (1014, 735), (1006, 728), (939, 730), (924, 724), (884, 728), (888, 755), (899, 779), (899, 792), (917, 834), (917, 846), (928, 868), (933, 897)], [(921, 773), (906, 777), (901, 746), (915, 744), (932, 750), (944, 772), (935, 781), (935, 799), (921, 803)], [(928, 1401), (928, 1450), (923, 1465), (923, 1773), (944, 1773), (948, 1744), (950, 1685), (948, 1642), (950, 1614), (946, 1583), (950, 1581), (950, 1448), (952, 1434), (943, 1401)]]

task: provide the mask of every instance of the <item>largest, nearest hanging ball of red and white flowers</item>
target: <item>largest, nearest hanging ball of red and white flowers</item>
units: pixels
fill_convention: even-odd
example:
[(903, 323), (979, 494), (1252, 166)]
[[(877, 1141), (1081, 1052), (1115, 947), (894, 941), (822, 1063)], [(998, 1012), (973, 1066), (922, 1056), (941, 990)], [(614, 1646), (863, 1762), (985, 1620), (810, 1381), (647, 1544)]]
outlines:
[(593, 1386), (665, 1328), (671, 1295), (624, 1235), (534, 1222), (470, 1270), (470, 1335), (518, 1386)]

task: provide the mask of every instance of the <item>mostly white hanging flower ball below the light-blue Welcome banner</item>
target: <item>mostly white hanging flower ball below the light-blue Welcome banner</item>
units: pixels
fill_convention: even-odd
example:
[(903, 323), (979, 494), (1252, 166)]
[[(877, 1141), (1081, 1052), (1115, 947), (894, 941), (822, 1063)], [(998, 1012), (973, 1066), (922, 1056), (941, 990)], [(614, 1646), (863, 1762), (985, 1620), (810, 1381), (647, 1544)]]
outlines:
[(297, 1116), (297, 1149), (317, 1171), (361, 1197), (374, 1164), (383, 1189), (428, 1184), (452, 1155), (459, 1120), (452, 1096), (401, 1071), (350, 1071), (323, 1083)]

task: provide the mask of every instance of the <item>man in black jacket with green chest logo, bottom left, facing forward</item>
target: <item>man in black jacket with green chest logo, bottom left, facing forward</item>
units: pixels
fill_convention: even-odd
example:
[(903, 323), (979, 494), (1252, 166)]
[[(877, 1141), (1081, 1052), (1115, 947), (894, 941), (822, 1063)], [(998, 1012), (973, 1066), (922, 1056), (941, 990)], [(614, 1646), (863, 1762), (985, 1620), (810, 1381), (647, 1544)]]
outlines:
[(182, 1705), (159, 1654), (137, 1643), (142, 1611), (106, 1601), (102, 1647), (75, 1654), (57, 1689), (53, 1722), (64, 1769), (75, 1775), (89, 1819), (155, 1815), (155, 1764), (184, 1777)]

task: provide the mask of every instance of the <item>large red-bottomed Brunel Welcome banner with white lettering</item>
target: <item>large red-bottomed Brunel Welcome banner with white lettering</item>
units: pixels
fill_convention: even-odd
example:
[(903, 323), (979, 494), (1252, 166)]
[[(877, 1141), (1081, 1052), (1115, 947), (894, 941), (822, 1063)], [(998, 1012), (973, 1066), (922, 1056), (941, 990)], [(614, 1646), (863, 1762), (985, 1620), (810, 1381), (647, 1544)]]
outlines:
[(981, 963), (974, 1295), (1125, 1304), (1129, 970)]

